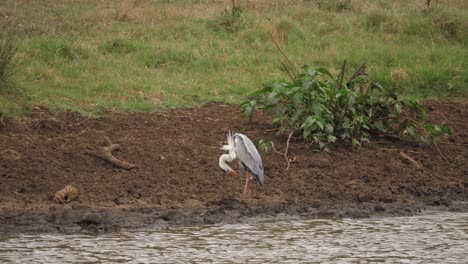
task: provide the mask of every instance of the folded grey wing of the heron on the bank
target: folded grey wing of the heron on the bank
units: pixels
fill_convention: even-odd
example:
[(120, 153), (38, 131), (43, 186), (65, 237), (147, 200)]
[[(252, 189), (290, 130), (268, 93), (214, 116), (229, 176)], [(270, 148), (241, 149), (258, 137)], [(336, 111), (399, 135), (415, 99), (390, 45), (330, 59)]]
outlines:
[(254, 143), (252, 143), (246, 135), (240, 133), (234, 135), (234, 143), (236, 146), (237, 158), (257, 178), (258, 182), (263, 185), (262, 158)]

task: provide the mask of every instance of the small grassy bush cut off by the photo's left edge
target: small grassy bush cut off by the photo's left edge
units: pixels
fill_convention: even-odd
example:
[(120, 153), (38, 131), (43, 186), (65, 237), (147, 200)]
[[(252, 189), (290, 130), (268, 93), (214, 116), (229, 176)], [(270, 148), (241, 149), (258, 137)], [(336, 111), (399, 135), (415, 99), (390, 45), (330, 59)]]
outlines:
[(17, 50), (11, 39), (0, 35), (0, 89), (8, 86), (8, 80), (18, 71)]

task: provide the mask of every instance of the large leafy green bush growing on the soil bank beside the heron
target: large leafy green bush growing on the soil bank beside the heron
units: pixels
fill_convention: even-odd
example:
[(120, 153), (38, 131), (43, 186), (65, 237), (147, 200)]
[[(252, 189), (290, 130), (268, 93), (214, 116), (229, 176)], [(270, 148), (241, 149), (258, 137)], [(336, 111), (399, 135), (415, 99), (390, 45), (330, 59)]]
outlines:
[(325, 69), (304, 66), (293, 81), (273, 81), (242, 103), (251, 116), (255, 109), (273, 116), (278, 134), (300, 132), (321, 149), (335, 142), (353, 146), (373, 134), (397, 134), (437, 143), (450, 133), (426, 123), (418, 101), (403, 101), (393, 92), (370, 82), (362, 65), (344, 82), (345, 65), (337, 78)]

